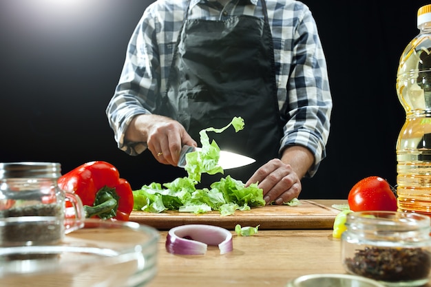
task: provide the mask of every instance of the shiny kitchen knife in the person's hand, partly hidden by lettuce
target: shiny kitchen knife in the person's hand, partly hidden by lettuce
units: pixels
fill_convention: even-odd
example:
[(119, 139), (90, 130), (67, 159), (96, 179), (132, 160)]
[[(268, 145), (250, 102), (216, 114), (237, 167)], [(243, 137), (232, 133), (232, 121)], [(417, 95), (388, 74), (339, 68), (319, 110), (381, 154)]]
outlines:
[[(186, 165), (186, 153), (191, 151), (200, 151), (200, 147), (191, 147), (185, 145), (182, 147), (180, 152), (180, 160), (178, 160), (178, 167), (184, 168)], [(222, 169), (235, 169), (236, 167), (244, 167), (244, 165), (252, 164), (256, 160), (254, 158), (249, 158), (248, 156), (242, 156), (238, 153), (233, 153), (231, 151), (220, 151), (220, 158), (218, 159), (218, 164)]]

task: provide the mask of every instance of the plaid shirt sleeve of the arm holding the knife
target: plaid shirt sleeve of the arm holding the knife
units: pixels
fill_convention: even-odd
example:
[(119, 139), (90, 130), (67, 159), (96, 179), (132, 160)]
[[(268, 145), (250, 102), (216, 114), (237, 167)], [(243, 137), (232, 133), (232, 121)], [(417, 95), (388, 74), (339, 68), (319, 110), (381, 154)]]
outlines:
[(160, 90), (160, 63), (155, 25), (149, 10), (144, 12), (127, 45), (123, 71), (106, 115), (118, 148), (136, 156), (147, 149), (145, 142), (128, 142), (125, 131), (134, 116), (156, 109)]

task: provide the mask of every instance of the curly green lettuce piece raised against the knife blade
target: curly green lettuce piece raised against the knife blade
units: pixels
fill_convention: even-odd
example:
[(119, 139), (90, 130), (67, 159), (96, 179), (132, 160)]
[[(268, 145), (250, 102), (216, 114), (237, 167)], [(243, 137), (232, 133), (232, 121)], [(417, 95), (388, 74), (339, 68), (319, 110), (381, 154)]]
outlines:
[(235, 132), (244, 129), (244, 119), (241, 117), (234, 117), (227, 126), (221, 129), (215, 129), (214, 127), (208, 127), (202, 129), (199, 132), (200, 143), (202, 149), (200, 151), (192, 151), (186, 154), (185, 170), (189, 175), (189, 178), (200, 182), (202, 173), (208, 173), (213, 175), (215, 173), (224, 173), (222, 167), (218, 164), (220, 158), (220, 147), (214, 140), (210, 143), (207, 131), (213, 131), (215, 133), (221, 133), (230, 126), (233, 126)]

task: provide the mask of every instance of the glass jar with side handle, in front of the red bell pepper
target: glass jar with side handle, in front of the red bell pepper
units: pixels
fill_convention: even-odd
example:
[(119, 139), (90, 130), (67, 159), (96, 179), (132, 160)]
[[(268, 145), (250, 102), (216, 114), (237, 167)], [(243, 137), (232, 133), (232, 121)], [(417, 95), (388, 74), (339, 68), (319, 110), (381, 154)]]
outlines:
[(60, 176), (55, 162), (0, 163), (1, 247), (56, 243), (83, 226), (81, 199), (59, 189)]

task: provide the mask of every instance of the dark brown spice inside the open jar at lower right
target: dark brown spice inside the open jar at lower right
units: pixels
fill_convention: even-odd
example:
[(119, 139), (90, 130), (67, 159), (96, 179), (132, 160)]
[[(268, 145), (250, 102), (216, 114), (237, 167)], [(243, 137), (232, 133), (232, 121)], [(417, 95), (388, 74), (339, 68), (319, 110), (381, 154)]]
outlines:
[(428, 277), (430, 256), (423, 248), (366, 247), (344, 263), (356, 275), (381, 281), (411, 281)]

